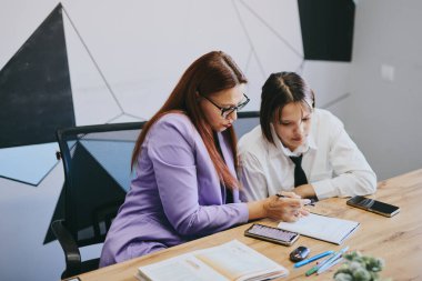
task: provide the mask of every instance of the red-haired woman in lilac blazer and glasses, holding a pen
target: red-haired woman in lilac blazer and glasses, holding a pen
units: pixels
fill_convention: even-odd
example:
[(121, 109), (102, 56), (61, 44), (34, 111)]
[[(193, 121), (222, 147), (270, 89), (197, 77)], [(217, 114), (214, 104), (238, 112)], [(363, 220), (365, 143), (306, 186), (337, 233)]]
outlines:
[(108, 232), (100, 265), (209, 235), (252, 219), (294, 221), (303, 201), (275, 195), (243, 203), (237, 179), (237, 111), (247, 78), (221, 51), (184, 72), (144, 126), (132, 164), (137, 175)]

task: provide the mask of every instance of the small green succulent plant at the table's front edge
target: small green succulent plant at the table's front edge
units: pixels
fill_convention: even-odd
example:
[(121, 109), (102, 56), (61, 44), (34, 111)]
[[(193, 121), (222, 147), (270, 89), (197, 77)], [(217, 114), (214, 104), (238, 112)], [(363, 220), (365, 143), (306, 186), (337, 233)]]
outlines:
[(379, 272), (384, 268), (382, 259), (363, 255), (359, 251), (344, 254), (344, 262), (334, 273), (335, 281), (391, 281), (381, 279)]

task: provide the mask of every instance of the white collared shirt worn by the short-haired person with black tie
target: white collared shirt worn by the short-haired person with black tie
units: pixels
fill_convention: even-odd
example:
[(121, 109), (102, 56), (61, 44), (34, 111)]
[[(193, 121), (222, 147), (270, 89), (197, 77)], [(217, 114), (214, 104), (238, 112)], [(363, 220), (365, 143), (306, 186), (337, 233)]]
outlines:
[(376, 175), (345, 132), (343, 123), (326, 110), (315, 109), (307, 142), (295, 151), (285, 148), (271, 127), (275, 145), (261, 127), (239, 141), (242, 199), (264, 199), (293, 191), (294, 163), (289, 155), (303, 153), (302, 168), (318, 199), (365, 195), (376, 191)]

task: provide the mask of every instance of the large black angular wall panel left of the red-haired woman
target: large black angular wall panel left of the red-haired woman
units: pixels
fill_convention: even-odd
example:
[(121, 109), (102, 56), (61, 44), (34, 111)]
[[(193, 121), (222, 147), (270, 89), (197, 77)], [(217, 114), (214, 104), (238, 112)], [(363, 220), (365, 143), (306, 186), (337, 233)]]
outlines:
[(59, 4), (0, 71), (0, 148), (54, 142), (74, 126)]

